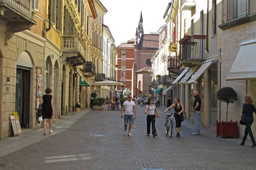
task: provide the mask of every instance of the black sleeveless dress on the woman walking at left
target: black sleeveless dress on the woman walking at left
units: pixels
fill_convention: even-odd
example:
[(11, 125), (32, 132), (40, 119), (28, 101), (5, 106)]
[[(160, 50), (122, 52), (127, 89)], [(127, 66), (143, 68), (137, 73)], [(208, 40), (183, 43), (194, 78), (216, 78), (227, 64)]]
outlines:
[(44, 94), (43, 96), (43, 119), (52, 119), (52, 95)]

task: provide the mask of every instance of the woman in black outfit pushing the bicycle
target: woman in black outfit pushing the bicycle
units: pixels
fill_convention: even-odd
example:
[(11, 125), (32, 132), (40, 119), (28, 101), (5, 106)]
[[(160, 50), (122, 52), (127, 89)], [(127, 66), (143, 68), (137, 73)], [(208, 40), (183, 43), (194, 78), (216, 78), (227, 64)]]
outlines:
[(183, 118), (183, 111), (184, 111), (184, 107), (183, 107), (183, 104), (180, 103), (180, 99), (178, 97), (175, 97), (174, 98), (174, 103), (169, 107), (167, 108), (164, 113), (166, 113), (169, 109), (171, 109), (172, 107), (174, 107), (174, 110), (177, 114), (174, 115), (174, 118), (175, 118), (175, 121), (176, 121), (176, 131), (177, 131), (177, 137), (180, 136), (180, 126), (181, 126), (181, 122), (183, 120), (181, 120), (180, 118), (184, 119)]

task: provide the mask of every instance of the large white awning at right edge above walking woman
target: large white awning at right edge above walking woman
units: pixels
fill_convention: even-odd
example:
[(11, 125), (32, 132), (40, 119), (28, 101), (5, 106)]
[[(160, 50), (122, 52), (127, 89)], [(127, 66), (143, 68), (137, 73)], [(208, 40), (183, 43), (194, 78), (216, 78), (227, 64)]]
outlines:
[(241, 47), (226, 80), (256, 79), (256, 39), (241, 43)]

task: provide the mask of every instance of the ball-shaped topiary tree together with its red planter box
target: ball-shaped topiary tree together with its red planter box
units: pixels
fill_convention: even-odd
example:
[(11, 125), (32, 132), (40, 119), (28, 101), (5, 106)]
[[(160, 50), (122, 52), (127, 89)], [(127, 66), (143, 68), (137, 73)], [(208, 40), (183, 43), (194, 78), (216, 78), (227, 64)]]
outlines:
[[(233, 88), (230, 87), (224, 87), (218, 90), (217, 92), (217, 99), (220, 100), (220, 102), (227, 103), (227, 113), (228, 113), (228, 105), (229, 103), (234, 103), (237, 100), (237, 93)], [(218, 122), (217, 120), (217, 137), (221, 136), (221, 138), (224, 137), (238, 137), (238, 123), (227, 121), (227, 113), (226, 113), (226, 122)]]

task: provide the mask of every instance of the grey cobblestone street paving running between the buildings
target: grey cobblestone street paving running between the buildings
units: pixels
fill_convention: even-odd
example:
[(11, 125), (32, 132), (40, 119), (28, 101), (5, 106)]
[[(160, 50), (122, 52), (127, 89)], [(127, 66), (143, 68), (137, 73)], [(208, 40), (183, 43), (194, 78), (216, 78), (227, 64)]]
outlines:
[(136, 105), (131, 137), (123, 133), (120, 111), (90, 111), (69, 129), (0, 157), (6, 164), (0, 170), (255, 170), (256, 149), (249, 140), (240, 146), (204, 133), (192, 136), (183, 125), (181, 137), (174, 129), (169, 138), (164, 109), (159, 108), (156, 137), (146, 136), (144, 107)]

